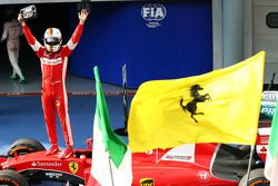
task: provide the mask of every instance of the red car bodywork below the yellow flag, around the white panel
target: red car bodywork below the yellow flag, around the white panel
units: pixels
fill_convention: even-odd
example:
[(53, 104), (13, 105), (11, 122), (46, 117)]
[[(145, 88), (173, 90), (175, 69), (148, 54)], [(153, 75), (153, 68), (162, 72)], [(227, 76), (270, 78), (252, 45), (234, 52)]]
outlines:
[(215, 148), (215, 144), (197, 144), (195, 163), (160, 160), (157, 164), (156, 159), (159, 159), (166, 153), (165, 150), (158, 150), (158, 156), (156, 151), (151, 155), (133, 154), (132, 186), (145, 186), (140, 185), (145, 178), (149, 178), (153, 185), (159, 186), (237, 186), (238, 182), (219, 179), (210, 174)]

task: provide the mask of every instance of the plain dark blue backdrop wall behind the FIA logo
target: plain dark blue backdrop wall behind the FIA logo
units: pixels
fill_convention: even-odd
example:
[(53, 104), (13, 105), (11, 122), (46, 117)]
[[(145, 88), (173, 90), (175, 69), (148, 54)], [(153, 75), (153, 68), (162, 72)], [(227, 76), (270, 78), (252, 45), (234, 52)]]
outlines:
[(137, 88), (147, 80), (211, 71), (211, 13), (210, 0), (92, 3), (71, 74), (93, 78), (97, 65), (103, 82), (121, 85), (127, 63), (128, 87)]

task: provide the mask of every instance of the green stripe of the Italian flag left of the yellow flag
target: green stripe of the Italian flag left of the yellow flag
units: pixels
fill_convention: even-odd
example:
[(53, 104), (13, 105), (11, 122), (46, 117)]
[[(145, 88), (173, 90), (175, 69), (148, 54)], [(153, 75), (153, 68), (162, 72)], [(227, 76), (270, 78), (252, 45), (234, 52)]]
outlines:
[(93, 68), (96, 79), (96, 91), (97, 91), (97, 115), (98, 115), (98, 127), (102, 133), (102, 143), (105, 144), (106, 150), (109, 153), (111, 160), (118, 168), (126, 151), (127, 146), (125, 141), (113, 133), (110, 125), (110, 117), (106, 104), (106, 98), (100, 84), (98, 67)]

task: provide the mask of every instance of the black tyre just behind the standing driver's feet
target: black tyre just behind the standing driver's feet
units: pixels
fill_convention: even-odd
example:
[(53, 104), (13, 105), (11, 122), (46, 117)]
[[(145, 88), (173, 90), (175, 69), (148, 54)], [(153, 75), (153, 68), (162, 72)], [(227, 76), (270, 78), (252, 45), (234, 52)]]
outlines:
[(14, 154), (17, 153), (18, 156), (34, 153), (34, 151), (42, 151), (46, 150), (46, 148), (36, 139), (32, 138), (21, 138), (14, 141), (7, 155), (9, 157), (13, 157)]

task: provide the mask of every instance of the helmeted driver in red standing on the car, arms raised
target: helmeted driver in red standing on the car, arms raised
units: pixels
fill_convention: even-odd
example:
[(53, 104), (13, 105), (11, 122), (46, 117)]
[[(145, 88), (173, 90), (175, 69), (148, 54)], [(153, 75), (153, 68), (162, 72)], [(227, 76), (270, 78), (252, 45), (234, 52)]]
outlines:
[(46, 151), (46, 154), (49, 156), (58, 154), (59, 151), (56, 130), (57, 110), (67, 146), (66, 149), (61, 150), (58, 154), (58, 157), (61, 159), (69, 158), (73, 154), (73, 137), (71, 133), (71, 125), (68, 112), (68, 97), (66, 91), (66, 72), (68, 58), (72, 50), (76, 48), (81, 37), (83, 23), (88, 14), (89, 12), (86, 9), (82, 9), (80, 12), (78, 12), (79, 23), (70, 40), (64, 46), (62, 46), (62, 36), (58, 28), (48, 28), (43, 36), (44, 45), (40, 45), (38, 40), (32, 36), (31, 30), (26, 25), (22, 14), (18, 14), (18, 21), (22, 26), (27, 41), (39, 57), (41, 63), (41, 101), (49, 141), (51, 143), (51, 146)]

